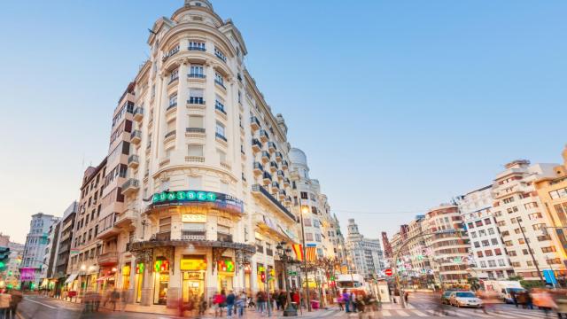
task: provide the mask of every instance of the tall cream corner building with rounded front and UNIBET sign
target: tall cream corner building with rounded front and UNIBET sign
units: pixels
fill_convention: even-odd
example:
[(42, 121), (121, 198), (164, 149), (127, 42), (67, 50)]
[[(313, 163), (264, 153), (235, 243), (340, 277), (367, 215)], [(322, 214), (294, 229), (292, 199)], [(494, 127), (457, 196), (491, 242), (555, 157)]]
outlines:
[(276, 245), (299, 242), (290, 144), (245, 69), (240, 32), (208, 1), (185, 1), (157, 20), (148, 44), (128, 97), (117, 286), (152, 307), (283, 287)]

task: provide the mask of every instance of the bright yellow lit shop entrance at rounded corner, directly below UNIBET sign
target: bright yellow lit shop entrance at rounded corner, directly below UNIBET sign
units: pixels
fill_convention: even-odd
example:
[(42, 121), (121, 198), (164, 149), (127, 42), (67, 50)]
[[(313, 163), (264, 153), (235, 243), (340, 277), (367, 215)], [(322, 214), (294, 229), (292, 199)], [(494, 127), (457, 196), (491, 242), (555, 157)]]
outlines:
[(198, 300), (205, 292), (206, 256), (183, 255), (179, 269), (182, 271), (183, 302)]

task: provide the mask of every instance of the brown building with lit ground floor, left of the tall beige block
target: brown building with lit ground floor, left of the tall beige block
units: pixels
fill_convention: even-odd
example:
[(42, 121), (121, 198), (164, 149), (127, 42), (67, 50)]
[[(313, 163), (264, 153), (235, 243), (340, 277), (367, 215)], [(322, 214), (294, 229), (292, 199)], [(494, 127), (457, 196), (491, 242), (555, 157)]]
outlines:
[[(97, 290), (98, 260), (102, 243), (97, 239), (101, 225), (98, 222), (102, 209), (105, 186), (106, 158), (97, 167), (87, 167), (82, 177), (81, 199), (75, 214), (73, 242), (70, 248), (66, 290), (79, 295)], [(117, 172), (116, 175), (125, 172)], [(68, 226), (68, 225), (67, 225)]]

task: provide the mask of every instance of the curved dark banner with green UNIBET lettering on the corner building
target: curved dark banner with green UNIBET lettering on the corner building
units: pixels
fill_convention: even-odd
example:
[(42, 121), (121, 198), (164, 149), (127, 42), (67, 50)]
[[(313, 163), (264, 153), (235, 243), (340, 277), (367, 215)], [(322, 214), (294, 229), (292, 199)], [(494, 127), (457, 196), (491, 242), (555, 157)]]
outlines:
[(162, 191), (151, 198), (151, 207), (201, 205), (244, 213), (242, 200), (214, 191)]

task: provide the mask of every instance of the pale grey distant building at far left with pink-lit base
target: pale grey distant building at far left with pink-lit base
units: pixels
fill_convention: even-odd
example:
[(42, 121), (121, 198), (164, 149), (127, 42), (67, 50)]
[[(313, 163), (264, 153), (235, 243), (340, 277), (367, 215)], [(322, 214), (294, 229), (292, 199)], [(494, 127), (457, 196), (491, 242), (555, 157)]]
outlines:
[(19, 278), (22, 288), (36, 289), (39, 287), (44, 264), (45, 247), (49, 244), (49, 231), (58, 219), (50, 214), (38, 213), (32, 215), (30, 230), (26, 237), (22, 262), (19, 266)]

